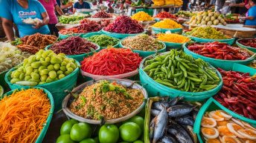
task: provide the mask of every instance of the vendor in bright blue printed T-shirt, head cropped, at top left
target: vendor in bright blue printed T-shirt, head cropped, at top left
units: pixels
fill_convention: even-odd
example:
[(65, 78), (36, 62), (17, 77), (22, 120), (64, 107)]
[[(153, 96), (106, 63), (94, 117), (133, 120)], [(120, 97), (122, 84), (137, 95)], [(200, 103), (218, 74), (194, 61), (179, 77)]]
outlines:
[[(24, 37), (34, 33), (49, 34), (50, 30), (47, 26), (49, 16), (45, 8), (36, 0), (1, 0), (0, 1), (0, 17), (3, 22), (4, 32), (7, 39), (14, 39), (13, 23), (19, 30), (19, 36)], [(24, 19), (42, 19), (35, 25), (25, 24)]]

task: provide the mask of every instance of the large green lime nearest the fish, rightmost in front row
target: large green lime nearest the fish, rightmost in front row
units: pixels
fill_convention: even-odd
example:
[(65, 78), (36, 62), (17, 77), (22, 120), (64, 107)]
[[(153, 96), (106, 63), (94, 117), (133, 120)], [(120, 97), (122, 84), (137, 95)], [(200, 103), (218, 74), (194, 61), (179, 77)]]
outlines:
[(127, 122), (119, 127), (121, 138), (126, 142), (135, 142), (141, 136), (141, 127), (134, 122)]

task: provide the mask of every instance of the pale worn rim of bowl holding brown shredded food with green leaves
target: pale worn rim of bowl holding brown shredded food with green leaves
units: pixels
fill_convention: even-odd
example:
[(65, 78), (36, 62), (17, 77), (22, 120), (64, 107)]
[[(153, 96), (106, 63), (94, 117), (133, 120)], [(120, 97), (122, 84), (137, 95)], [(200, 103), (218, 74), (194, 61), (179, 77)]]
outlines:
[[(128, 79), (106, 79), (109, 82), (117, 82), (118, 84), (122, 84), (126, 87), (132, 86), (133, 89), (139, 89), (141, 90), (141, 92), (144, 95), (144, 99), (147, 99), (147, 91), (144, 89), (144, 87), (141, 87), (141, 85), (136, 84), (135, 82), (128, 80)], [(81, 84), (79, 87), (76, 87), (72, 90), (73, 93), (79, 93), (78, 90), (83, 89), (84, 87), (87, 87), (89, 85), (94, 84), (95, 81), (89, 81), (89, 82), (85, 82), (84, 84)], [(68, 109), (69, 104), (71, 104), (71, 94), (68, 94), (68, 96), (65, 96), (65, 99), (63, 100), (63, 111), (64, 113), (69, 116), (71, 119), (76, 119), (77, 121), (80, 122), (86, 122), (89, 124), (100, 124), (100, 120), (93, 120), (93, 119), (85, 119), (81, 116), (77, 116), (76, 114), (72, 113), (71, 110)], [(144, 100), (144, 102), (141, 104), (140, 107), (138, 107), (136, 110), (132, 111), (132, 113), (129, 113), (127, 116), (118, 118), (118, 119), (110, 119), (110, 120), (106, 120), (106, 124), (115, 124), (118, 122), (124, 122), (127, 119), (132, 118), (132, 116), (135, 116), (136, 114), (138, 114), (143, 108), (144, 105), (146, 104), (147, 100)]]

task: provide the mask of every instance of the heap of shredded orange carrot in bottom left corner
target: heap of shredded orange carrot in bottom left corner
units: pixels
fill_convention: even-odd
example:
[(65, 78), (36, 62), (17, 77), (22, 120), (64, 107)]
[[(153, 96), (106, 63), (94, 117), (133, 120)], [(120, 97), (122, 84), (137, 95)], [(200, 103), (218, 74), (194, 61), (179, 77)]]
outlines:
[(41, 133), (51, 104), (43, 90), (28, 89), (0, 101), (0, 142), (32, 143)]

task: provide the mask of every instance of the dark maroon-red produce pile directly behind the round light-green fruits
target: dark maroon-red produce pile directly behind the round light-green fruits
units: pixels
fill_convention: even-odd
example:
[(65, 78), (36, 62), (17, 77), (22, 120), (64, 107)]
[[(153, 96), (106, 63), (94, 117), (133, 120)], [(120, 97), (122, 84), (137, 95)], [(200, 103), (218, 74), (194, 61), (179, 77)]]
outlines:
[(80, 55), (96, 49), (96, 44), (91, 41), (82, 39), (79, 36), (72, 36), (62, 41), (57, 41), (49, 50), (53, 50), (54, 53), (65, 53), (65, 55)]

